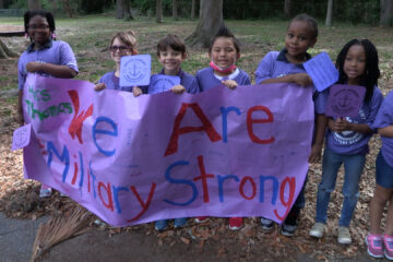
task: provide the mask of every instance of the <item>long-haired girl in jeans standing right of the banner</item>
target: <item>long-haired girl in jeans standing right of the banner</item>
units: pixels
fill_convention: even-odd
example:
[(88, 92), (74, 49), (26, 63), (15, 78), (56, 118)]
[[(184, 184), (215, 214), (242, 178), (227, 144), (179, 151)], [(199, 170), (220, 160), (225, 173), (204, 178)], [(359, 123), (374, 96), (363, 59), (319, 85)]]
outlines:
[(321, 238), (326, 224), (330, 194), (334, 190), (340, 166), (344, 163), (344, 203), (338, 221), (338, 242), (350, 243), (349, 223), (357, 199), (360, 176), (368, 153), (368, 141), (383, 96), (377, 87), (380, 70), (378, 52), (368, 39), (353, 39), (338, 53), (338, 84), (361, 85), (366, 95), (356, 117), (329, 118), (323, 153), (322, 180), (318, 187), (315, 224), (310, 236)]

